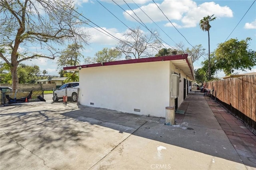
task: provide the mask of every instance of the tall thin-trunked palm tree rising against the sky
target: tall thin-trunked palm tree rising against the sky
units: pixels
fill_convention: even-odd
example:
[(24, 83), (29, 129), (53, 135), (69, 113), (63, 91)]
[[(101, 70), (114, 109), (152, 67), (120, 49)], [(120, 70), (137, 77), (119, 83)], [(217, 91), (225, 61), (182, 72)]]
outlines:
[(214, 14), (212, 16), (206, 16), (204, 17), (202, 20), (200, 20), (199, 26), (203, 31), (207, 31), (208, 32), (208, 47), (209, 47), (209, 51), (208, 51), (208, 80), (210, 80), (211, 78), (211, 65), (210, 65), (210, 33), (209, 30), (212, 26), (210, 26), (210, 22), (215, 20), (216, 17), (213, 17)]

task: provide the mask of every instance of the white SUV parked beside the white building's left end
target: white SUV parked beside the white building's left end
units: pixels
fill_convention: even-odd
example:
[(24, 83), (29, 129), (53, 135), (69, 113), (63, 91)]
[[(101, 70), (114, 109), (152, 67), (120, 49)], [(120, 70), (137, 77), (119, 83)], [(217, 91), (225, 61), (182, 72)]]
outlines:
[(60, 88), (56, 89), (53, 92), (53, 96), (54, 96), (53, 101), (58, 101), (59, 99), (63, 99), (63, 96), (66, 96), (66, 89), (67, 89), (67, 97), (71, 98), (72, 101), (76, 102), (78, 88), (79, 88), (79, 82), (66, 83), (60, 86)]

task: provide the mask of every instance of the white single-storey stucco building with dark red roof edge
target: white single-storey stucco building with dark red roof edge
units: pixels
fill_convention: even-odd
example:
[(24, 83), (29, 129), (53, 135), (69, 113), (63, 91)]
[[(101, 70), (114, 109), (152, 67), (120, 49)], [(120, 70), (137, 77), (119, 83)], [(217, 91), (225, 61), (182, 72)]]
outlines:
[[(190, 56), (171, 55), (64, 67), (79, 70), (81, 105), (165, 117), (194, 81)], [(179, 77), (180, 76), (180, 77)]]

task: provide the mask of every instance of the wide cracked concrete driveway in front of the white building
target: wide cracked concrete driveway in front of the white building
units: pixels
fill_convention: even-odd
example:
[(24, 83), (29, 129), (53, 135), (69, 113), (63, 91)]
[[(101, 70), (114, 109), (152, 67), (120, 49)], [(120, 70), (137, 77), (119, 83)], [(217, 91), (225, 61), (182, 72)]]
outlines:
[(0, 169), (246, 169), (212, 121), (168, 126), (74, 103), (1, 107)]

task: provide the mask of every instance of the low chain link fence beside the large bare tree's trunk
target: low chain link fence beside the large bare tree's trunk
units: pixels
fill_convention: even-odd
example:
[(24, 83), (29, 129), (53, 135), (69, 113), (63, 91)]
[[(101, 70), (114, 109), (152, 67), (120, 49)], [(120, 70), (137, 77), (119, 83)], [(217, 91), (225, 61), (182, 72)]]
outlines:
[(23, 103), (26, 101), (41, 101), (44, 98), (43, 90), (35, 91), (0, 91), (1, 105), (12, 103)]

